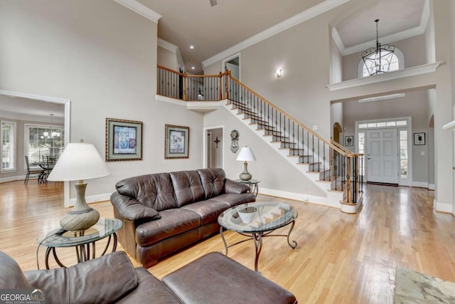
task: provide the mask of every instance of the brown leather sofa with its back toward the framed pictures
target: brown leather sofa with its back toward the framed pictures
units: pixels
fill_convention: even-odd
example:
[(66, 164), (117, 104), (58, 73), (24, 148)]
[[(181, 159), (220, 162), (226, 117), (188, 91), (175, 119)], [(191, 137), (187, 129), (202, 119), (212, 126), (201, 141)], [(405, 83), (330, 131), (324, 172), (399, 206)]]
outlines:
[(117, 182), (111, 196), (123, 248), (149, 268), (170, 253), (220, 231), (226, 209), (255, 201), (223, 169), (147, 174)]

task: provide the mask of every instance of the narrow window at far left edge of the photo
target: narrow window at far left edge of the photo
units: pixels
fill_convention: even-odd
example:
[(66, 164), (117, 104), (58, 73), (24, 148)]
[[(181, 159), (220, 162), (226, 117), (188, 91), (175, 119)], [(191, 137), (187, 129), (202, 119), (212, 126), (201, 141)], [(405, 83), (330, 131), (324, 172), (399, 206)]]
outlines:
[(16, 123), (1, 122), (1, 172), (16, 169)]

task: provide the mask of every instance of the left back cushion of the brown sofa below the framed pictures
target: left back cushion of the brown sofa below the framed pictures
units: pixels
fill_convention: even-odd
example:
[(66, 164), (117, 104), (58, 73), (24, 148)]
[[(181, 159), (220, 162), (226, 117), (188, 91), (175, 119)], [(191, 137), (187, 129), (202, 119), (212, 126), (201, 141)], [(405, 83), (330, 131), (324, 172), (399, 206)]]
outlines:
[(177, 207), (171, 176), (168, 173), (141, 175), (115, 184), (119, 194), (132, 196), (156, 211)]

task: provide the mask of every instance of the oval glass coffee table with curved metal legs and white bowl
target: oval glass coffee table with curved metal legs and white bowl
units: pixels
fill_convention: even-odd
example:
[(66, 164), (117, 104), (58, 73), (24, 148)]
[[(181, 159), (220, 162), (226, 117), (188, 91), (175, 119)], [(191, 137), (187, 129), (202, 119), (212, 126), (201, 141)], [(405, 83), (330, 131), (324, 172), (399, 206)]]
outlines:
[[(297, 246), (296, 241), (290, 240), (292, 229), (297, 219), (297, 211), (293, 206), (283, 203), (274, 203), (271, 201), (256, 201), (253, 203), (241, 204), (233, 206), (225, 210), (218, 216), (218, 224), (220, 224), (220, 234), (223, 243), (225, 244), (226, 256), (228, 248), (249, 241), (252, 239), (255, 242), (256, 257), (255, 271), (257, 271), (257, 261), (259, 253), (262, 249), (262, 238), (265, 236), (286, 236), (287, 243), (294, 249)], [(288, 234), (272, 234), (276, 229), (291, 225)], [(248, 239), (238, 241), (228, 246), (226, 243), (223, 230), (228, 229), (235, 231), (242, 236), (248, 236)]]

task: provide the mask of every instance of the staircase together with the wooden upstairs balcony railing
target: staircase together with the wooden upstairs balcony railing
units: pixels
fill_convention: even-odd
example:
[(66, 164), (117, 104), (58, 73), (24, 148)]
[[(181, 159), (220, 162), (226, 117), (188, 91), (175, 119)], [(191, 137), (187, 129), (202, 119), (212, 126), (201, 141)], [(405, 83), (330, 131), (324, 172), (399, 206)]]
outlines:
[[(232, 78), (230, 71), (219, 75), (186, 75), (159, 65), (158, 94), (183, 100), (228, 100), (232, 115), (250, 127), (268, 145), (304, 174), (326, 195), (305, 196), (305, 201), (356, 213), (362, 202), (360, 172), (363, 154), (354, 154), (336, 142), (325, 140), (287, 112), (265, 100)], [(183, 78), (182, 84), (178, 78)], [(197, 89), (196, 89), (197, 88)]]

